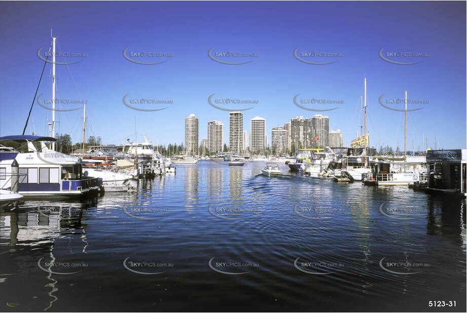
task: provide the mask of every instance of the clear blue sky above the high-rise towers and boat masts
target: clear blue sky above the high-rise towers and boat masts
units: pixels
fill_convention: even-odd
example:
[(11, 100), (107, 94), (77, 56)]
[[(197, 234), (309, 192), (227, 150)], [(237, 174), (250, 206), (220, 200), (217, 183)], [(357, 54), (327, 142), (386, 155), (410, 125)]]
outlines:
[[(154, 142), (184, 141), (184, 118), (199, 118), (199, 139), (207, 138), (207, 122), (225, 124), (228, 112), (210, 106), (207, 98), (254, 99), (244, 111), (244, 129), (256, 115), (272, 127), (297, 115), (315, 113), (294, 105), (293, 98), (343, 100), (339, 108), (322, 112), (330, 129), (343, 132), (349, 145), (360, 126), (360, 96), (367, 77), (370, 144), (404, 146), (404, 113), (384, 108), (378, 98), (429, 100), (408, 114), (408, 146), (429, 146), (435, 133), (443, 148), (466, 145), (465, 2), (2, 2), (0, 38), (3, 45), (0, 134), (20, 134), (44, 64), (37, 52), (57, 38), (57, 52), (87, 53), (69, 57), (77, 64), (57, 65), (57, 97), (87, 100), (87, 135), (104, 143), (121, 143), (143, 133)], [(122, 51), (164, 52), (173, 57), (133, 58)], [(213, 52), (256, 53), (258, 57), (208, 57)], [(392, 57), (413, 65), (392, 64), (378, 52), (419, 52), (428, 57)], [(343, 57), (304, 57), (293, 52), (340, 53)], [(42, 51), (43, 53), (45, 52)], [(57, 62), (65, 60), (58, 57)], [(46, 66), (39, 94), (51, 97), (51, 64)], [(171, 99), (165, 110), (143, 112), (126, 107), (122, 98)], [(383, 98), (385, 99), (385, 98)], [(65, 108), (63, 105), (62, 108)], [(399, 105), (392, 105), (399, 107)], [(66, 106), (68, 107), (80, 107)], [(157, 107), (153, 106), (143, 106)], [(229, 105), (226, 107), (232, 107)], [(236, 105), (236, 108), (242, 105)], [(410, 108), (410, 107), (409, 107)], [(82, 110), (57, 113), (57, 131), (74, 142), (82, 138)], [(37, 103), (26, 134), (48, 134), (51, 111)]]

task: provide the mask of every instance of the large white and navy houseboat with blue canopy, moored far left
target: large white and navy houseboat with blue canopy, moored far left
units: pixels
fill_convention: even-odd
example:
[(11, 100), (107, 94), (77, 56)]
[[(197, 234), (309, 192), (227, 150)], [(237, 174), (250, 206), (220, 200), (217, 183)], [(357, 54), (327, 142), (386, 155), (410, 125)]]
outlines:
[[(98, 192), (97, 178), (83, 177), (84, 162), (73, 156), (49, 149), (46, 142), (53, 137), (17, 135), (0, 137), (0, 170), (12, 172), (14, 160), (19, 166), (18, 193), (28, 198), (80, 198)], [(0, 178), (0, 183), (2, 183)]]

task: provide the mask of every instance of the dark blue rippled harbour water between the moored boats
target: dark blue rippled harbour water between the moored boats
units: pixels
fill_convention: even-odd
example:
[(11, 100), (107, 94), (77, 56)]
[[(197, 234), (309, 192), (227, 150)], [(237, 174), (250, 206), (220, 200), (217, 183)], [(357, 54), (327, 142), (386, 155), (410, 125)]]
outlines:
[(262, 167), (1, 214), (6, 310), (465, 311), (465, 201)]

